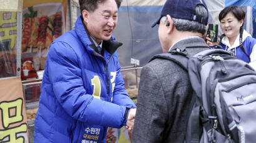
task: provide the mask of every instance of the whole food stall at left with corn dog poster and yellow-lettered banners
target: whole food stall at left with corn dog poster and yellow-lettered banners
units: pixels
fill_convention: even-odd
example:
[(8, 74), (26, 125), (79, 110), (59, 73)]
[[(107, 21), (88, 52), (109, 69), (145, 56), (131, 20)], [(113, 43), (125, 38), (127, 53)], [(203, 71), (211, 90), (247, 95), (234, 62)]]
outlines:
[(0, 2), (0, 141), (33, 142), (49, 45), (71, 29), (69, 1)]

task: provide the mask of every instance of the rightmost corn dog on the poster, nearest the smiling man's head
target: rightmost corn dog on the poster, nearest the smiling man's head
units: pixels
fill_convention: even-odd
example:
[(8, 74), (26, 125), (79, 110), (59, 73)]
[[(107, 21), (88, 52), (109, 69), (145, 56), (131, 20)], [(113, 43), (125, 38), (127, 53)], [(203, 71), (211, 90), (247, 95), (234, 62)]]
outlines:
[(59, 11), (54, 16), (54, 32), (53, 32), (53, 40), (57, 39), (57, 37), (60, 37), (62, 34), (62, 12)]

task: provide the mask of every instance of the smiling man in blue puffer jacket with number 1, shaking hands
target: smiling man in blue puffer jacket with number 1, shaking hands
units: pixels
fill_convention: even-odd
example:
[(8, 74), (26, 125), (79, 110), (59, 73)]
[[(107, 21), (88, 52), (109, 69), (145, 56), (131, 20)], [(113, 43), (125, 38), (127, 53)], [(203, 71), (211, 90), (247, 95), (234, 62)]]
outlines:
[[(46, 60), (34, 142), (106, 142), (107, 127), (132, 130), (112, 32), (120, 0), (79, 0), (75, 29), (56, 39)], [(100, 52), (101, 51), (101, 52)]]

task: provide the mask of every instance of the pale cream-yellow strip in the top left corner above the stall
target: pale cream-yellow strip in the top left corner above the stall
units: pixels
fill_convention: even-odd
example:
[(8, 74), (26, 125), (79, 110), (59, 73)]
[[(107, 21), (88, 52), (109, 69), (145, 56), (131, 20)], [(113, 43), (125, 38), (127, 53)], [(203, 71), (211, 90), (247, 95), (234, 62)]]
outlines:
[(22, 0), (0, 0), (0, 11), (18, 11), (22, 10)]

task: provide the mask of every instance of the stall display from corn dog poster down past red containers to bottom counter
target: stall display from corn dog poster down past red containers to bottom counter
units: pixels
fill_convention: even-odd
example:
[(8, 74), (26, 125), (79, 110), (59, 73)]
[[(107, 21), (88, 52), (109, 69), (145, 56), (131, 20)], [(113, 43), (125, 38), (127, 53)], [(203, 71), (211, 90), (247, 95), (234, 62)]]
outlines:
[(47, 53), (55, 39), (71, 30), (70, 17), (69, 1), (22, 1), (19, 63), (30, 143), (34, 142), (34, 118), (39, 106)]

